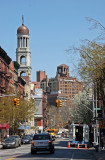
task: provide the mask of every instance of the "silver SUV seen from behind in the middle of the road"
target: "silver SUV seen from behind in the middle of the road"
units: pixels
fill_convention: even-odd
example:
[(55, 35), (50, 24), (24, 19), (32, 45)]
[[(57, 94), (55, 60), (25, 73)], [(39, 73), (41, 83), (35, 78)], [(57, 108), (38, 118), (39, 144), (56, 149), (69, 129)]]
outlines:
[(54, 139), (49, 133), (35, 134), (31, 143), (31, 154), (37, 151), (50, 151), (54, 153)]

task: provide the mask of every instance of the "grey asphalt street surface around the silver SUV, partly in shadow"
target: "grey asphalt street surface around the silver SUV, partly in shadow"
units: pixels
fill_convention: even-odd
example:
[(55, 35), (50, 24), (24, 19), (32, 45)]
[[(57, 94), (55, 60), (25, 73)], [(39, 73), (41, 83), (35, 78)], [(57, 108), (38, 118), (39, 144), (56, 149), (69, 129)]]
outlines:
[(55, 139), (55, 153), (47, 151), (31, 155), (30, 144), (14, 149), (0, 149), (0, 160), (95, 160), (94, 149), (68, 148), (68, 138)]

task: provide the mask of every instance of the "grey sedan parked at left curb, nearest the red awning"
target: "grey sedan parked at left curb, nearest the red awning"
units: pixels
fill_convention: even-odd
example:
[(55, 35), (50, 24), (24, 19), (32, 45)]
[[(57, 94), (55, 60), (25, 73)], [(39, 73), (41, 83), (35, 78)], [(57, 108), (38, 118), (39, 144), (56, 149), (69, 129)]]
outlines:
[(19, 146), (18, 140), (14, 137), (8, 137), (2, 143), (3, 148), (16, 148)]

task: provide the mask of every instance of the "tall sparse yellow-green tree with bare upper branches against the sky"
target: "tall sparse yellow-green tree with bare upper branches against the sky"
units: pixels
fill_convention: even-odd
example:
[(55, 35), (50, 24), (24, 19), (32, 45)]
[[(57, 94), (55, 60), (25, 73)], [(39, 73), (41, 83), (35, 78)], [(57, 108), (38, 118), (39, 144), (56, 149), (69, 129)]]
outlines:
[(66, 51), (79, 53), (78, 73), (85, 86), (97, 92), (97, 99), (105, 107), (105, 27), (92, 18), (88, 18), (88, 21), (93, 23), (93, 28), (100, 27), (101, 33), (95, 40), (84, 40), (80, 47)]

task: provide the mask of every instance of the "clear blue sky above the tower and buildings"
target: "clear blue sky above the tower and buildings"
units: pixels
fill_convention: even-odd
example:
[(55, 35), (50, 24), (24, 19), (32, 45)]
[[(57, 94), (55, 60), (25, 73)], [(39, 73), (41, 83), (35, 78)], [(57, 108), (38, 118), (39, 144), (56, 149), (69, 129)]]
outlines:
[(0, 46), (13, 61), (22, 15), (30, 34), (32, 81), (39, 70), (54, 78), (61, 64), (68, 65), (70, 76), (77, 78), (79, 53), (65, 50), (96, 37), (99, 30), (91, 29), (87, 17), (105, 26), (105, 0), (0, 0)]

